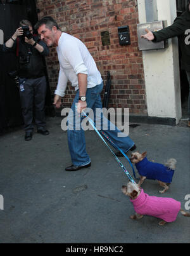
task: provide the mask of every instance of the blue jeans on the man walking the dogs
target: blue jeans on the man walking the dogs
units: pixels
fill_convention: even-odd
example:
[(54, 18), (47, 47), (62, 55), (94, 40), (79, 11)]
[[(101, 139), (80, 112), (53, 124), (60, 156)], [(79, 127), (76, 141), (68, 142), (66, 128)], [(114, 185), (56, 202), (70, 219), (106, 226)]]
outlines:
[[(100, 96), (102, 90), (103, 83), (98, 84), (93, 88), (87, 89), (87, 107), (92, 109), (94, 113), (96, 111), (96, 108), (102, 108)], [(80, 124), (76, 123), (75, 121), (75, 104), (78, 103), (78, 101), (79, 90), (77, 91), (77, 94), (73, 100), (71, 108), (72, 111), (70, 111), (68, 114), (68, 123), (70, 123), (70, 120), (73, 121), (71, 121), (72, 125), (68, 125), (67, 137), (68, 147), (70, 150), (73, 165), (84, 166), (91, 163), (91, 158), (89, 158), (89, 155), (86, 152), (84, 130), (79, 129), (79, 125), (81, 124), (84, 117), (81, 117), (79, 119)], [(122, 149), (122, 151), (127, 152), (131, 147), (134, 146), (134, 142), (129, 137), (118, 137), (117, 133), (120, 133), (121, 131), (119, 131), (118, 128), (113, 125), (113, 123), (111, 123), (110, 121), (108, 121), (108, 119), (101, 115), (101, 127), (103, 126), (104, 122), (107, 122), (108, 126), (108, 130), (104, 130), (104, 132), (106, 133), (106, 135), (108, 135), (108, 137), (111, 138), (111, 140), (113, 140), (115, 144), (117, 144), (118, 147), (120, 147), (120, 149)], [(97, 139), (99, 138), (97, 137)]]

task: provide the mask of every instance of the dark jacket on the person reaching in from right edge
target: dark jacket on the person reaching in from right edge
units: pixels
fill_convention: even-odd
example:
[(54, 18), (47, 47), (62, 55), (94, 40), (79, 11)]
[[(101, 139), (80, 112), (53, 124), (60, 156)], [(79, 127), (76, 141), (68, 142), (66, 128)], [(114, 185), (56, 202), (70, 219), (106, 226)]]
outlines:
[[(189, 30), (189, 31), (187, 31)], [(181, 65), (182, 69), (190, 72), (190, 12), (189, 10), (182, 13), (180, 17), (175, 18), (174, 24), (158, 32), (153, 32), (155, 39), (153, 42), (178, 36), (179, 46), (181, 47)], [(189, 44), (187, 42), (189, 41)]]

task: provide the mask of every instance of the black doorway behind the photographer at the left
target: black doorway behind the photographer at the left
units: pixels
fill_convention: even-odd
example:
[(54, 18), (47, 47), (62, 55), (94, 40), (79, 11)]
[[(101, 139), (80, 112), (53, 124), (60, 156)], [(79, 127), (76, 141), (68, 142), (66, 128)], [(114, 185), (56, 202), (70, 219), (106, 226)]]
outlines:
[[(0, 0), (0, 30), (5, 43), (19, 26), (20, 20), (30, 20), (34, 26), (38, 20), (34, 0)], [(1, 40), (2, 41), (2, 40)], [(0, 41), (0, 134), (9, 128), (23, 125), (20, 95), (15, 81), (8, 73), (16, 70), (15, 53), (2, 53)], [(44, 59), (44, 66), (46, 62)], [(54, 116), (51, 91), (46, 72), (47, 94), (46, 115)]]

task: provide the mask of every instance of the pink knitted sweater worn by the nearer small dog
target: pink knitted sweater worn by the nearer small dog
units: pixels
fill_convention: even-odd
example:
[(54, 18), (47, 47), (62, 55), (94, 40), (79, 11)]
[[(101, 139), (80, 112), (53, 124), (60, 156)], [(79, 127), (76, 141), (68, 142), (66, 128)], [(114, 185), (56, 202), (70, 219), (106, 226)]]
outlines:
[(181, 209), (181, 203), (173, 198), (158, 198), (149, 196), (141, 189), (141, 194), (130, 201), (133, 203), (136, 213), (141, 215), (150, 215), (156, 218), (173, 222)]

